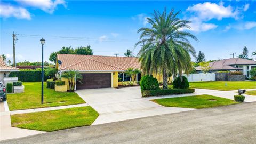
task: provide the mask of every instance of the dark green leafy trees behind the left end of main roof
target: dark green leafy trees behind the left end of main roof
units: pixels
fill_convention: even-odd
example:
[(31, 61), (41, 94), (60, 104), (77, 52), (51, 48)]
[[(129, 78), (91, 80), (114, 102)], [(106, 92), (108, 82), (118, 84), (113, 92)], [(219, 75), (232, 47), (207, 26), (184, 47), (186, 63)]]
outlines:
[(69, 47), (65, 47), (63, 46), (61, 48), (61, 50), (57, 51), (57, 52), (52, 52), (50, 54), (49, 60), (56, 63), (56, 59), (57, 59), (57, 54), (83, 54), (83, 55), (92, 55), (92, 49), (91, 46), (87, 46), (87, 47), (77, 47), (76, 49), (73, 49), (73, 47), (69, 46)]

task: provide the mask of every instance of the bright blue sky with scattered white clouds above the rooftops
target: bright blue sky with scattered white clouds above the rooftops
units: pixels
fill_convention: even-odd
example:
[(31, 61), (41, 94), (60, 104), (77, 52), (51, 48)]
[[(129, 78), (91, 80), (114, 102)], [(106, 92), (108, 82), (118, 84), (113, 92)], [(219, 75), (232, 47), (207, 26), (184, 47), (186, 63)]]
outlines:
[(0, 2), (0, 53), (12, 60), (14, 31), (17, 61), (41, 61), (42, 37), (47, 61), (62, 46), (91, 45), (94, 55), (123, 56), (139, 41), (137, 30), (149, 27), (145, 18), (164, 7), (191, 21), (189, 31), (199, 39), (192, 44), (207, 60), (231, 58), (244, 46), (250, 56), (256, 50), (256, 1), (16, 0)]

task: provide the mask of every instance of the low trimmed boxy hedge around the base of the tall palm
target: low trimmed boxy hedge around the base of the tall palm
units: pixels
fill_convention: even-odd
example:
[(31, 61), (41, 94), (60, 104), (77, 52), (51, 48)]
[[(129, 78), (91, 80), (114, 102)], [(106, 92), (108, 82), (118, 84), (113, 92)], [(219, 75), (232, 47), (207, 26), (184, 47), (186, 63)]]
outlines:
[(143, 90), (141, 91), (142, 97), (155, 96), (155, 95), (170, 95), (170, 94), (184, 94), (193, 93), (195, 89), (159, 89), (159, 90)]

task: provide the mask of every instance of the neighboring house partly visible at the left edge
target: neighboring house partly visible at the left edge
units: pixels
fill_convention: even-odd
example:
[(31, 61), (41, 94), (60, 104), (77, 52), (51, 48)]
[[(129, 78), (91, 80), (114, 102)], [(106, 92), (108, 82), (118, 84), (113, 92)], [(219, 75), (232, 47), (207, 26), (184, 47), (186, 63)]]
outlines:
[(5, 83), (4, 77), (8, 77), (8, 75), (12, 71), (19, 71), (19, 69), (15, 67), (7, 66), (6, 63), (3, 61), (2, 57), (0, 56), (0, 81)]

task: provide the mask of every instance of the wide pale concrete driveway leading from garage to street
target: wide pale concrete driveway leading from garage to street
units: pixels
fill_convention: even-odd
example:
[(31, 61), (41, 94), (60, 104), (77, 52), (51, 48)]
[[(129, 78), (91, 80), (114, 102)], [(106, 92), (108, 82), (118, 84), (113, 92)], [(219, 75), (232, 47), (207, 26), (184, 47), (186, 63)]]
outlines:
[(140, 87), (77, 90), (76, 93), (100, 114), (92, 125), (194, 110), (163, 107), (142, 99)]

